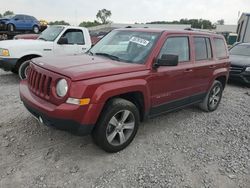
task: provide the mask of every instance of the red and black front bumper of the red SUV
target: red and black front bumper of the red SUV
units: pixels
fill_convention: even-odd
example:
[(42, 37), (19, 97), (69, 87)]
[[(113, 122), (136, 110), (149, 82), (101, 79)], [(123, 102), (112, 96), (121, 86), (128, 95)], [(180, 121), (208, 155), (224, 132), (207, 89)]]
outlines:
[(82, 111), (82, 107), (70, 104), (55, 106), (32, 94), (26, 81), (20, 83), (20, 98), (27, 110), (47, 126), (77, 135), (88, 135), (94, 128), (94, 124), (84, 124), (78, 121), (76, 114)]

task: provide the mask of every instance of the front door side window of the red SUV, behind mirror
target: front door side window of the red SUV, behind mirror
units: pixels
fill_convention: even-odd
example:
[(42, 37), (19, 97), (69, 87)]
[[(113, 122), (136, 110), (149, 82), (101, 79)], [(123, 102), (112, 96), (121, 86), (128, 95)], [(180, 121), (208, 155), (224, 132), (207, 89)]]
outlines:
[(189, 40), (188, 37), (170, 37), (163, 45), (160, 56), (178, 55), (179, 61), (189, 61)]

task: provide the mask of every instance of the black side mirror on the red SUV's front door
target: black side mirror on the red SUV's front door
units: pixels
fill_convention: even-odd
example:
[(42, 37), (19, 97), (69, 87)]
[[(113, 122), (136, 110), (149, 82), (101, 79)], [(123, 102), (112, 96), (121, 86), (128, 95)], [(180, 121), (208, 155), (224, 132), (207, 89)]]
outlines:
[(179, 63), (178, 55), (163, 54), (160, 59), (157, 59), (154, 67), (158, 68), (160, 66), (177, 66)]

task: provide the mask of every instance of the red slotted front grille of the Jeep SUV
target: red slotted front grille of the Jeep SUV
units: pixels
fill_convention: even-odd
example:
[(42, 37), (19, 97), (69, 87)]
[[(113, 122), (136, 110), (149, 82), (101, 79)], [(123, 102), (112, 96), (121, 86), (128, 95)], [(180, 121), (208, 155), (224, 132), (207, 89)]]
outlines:
[(28, 74), (29, 88), (36, 95), (49, 98), (51, 94), (52, 78), (30, 68)]

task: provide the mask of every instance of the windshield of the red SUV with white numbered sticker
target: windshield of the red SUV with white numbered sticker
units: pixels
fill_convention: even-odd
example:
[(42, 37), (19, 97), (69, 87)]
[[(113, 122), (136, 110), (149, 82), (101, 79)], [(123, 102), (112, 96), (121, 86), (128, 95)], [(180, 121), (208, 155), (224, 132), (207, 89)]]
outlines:
[(89, 53), (129, 63), (144, 63), (157, 41), (159, 33), (112, 31)]

